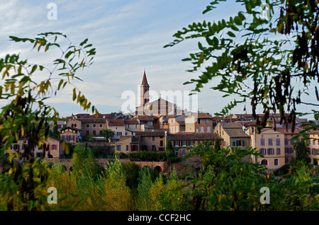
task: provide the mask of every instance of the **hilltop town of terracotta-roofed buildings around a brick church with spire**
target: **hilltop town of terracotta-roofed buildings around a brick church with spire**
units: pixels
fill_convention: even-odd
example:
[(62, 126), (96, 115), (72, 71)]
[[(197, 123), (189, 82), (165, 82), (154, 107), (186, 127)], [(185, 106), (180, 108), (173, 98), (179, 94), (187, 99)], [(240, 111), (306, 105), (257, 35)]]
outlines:
[[(268, 171), (289, 164), (291, 158), (296, 156), (292, 140), (298, 132), (303, 129), (307, 119), (297, 118), (295, 129), (284, 124), (280, 125), (280, 115), (272, 114), (269, 117), (268, 126), (261, 132), (256, 129), (256, 120), (251, 114), (233, 114), (225, 117), (216, 117), (210, 113), (190, 112), (177, 110), (176, 104), (163, 99), (150, 102), (150, 85), (144, 71), (142, 83), (140, 84), (140, 105), (136, 107), (133, 114), (130, 113), (79, 113), (70, 115), (57, 122), (57, 135), (52, 135), (45, 144), (50, 145), (50, 154), (43, 157), (43, 149), (40, 146), (35, 149), (35, 157), (46, 158), (48, 161), (60, 161), (69, 158), (62, 150), (62, 141), (69, 146), (75, 146), (78, 142), (89, 145), (97, 151), (100, 158), (111, 158), (118, 156), (125, 158), (128, 154), (139, 151), (164, 152), (167, 150), (167, 143), (171, 142), (175, 156), (182, 158), (191, 152), (190, 146), (197, 146), (198, 143), (220, 142), (220, 147), (231, 149), (246, 149), (249, 146), (256, 148), (264, 157), (246, 156), (244, 161), (259, 162), (267, 166)], [(150, 110), (151, 108), (151, 110)], [(148, 109), (145, 113), (145, 109)], [(262, 115), (259, 115), (262, 118)], [(276, 127), (276, 128), (275, 128)], [(319, 138), (319, 131), (313, 130), (307, 133), (312, 139)], [(308, 141), (308, 154), (311, 162), (318, 165), (319, 140)], [(12, 149), (20, 148), (23, 152), (23, 145), (13, 143)], [(126, 157), (127, 158), (127, 157)], [(192, 168), (201, 167), (201, 159), (192, 157), (179, 161), (179, 167), (191, 165)], [(148, 164), (153, 165), (153, 164)], [(177, 163), (177, 168), (178, 163)], [(166, 166), (156, 166), (159, 172), (171, 172)]]

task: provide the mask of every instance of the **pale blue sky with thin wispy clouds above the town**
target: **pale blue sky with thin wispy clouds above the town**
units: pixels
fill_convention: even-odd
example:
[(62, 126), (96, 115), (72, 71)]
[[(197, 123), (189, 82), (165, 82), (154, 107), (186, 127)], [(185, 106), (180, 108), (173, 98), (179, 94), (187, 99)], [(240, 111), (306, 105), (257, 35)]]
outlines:
[[(78, 44), (88, 38), (96, 48), (94, 63), (80, 71), (83, 82), (75, 82), (99, 113), (121, 110), (127, 99), (121, 96), (133, 91), (139, 99), (139, 86), (146, 71), (150, 90), (191, 91), (194, 85), (183, 85), (196, 79), (201, 70), (189, 73), (189, 62), (182, 62), (198, 51), (198, 40), (187, 40), (164, 48), (174, 40), (174, 33), (193, 22), (218, 21), (234, 16), (238, 5), (234, 1), (220, 4), (218, 9), (202, 14), (210, 1), (190, 0), (108, 0), (108, 1), (40, 1), (0, 0), (0, 57), (20, 53), (31, 62), (47, 62), (45, 54), (32, 51), (31, 45), (9, 41), (9, 35), (35, 37), (39, 33), (60, 32)], [(57, 6), (57, 19), (48, 14)], [(217, 113), (227, 101), (223, 93), (213, 91), (211, 83), (197, 95), (198, 109)], [(313, 97), (314, 98), (314, 97)], [(66, 88), (48, 100), (60, 115), (83, 113), (72, 101), (72, 89)], [(250, 103), (238, 105), (231, 113), (250, 113)], [(91, 111), (89, 111), (91, 113)], [(262, 113), (262, 111), (258, 112)]]

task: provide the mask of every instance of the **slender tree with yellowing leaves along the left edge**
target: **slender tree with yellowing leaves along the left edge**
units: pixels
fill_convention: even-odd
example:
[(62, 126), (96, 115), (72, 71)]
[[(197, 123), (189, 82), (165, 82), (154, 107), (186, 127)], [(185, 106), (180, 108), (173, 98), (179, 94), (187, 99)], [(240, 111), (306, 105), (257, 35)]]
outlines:
[[(10, 36), (10, 39), (14, 42), (30, 42), (38, 52), (49, 52), (52, 48), (57, 48), (61, 53), (60, 57), (52, 59), (52, 64), (50, 58), (47, 58), (48, 66), (30, 63), (28, 59), (21, 59), (19, 54), (6, 54), (0, 59), (0, 99), (6, 103), (0, 112), (0, 156), (6, 150), (9, 151), (5, 170), (8, 171), (7, 179), (11, 182), (11, 189), (0, 190), (1, 198), (9, 196), (1, 204), (8, 210), (13, 207), (17, 210), (33, 210), (43, 207), (43, 202), (46, 202), (45, 184), (50, 180), (47, 163), (35, 159), (34, 149), (49, 136), (50, 123), (59, 119), (57, 110), (45, 101), (56, 96), (57, 91), (72, 86), (72, 99), (77, 100), (84, 110), (91, 108), (92, 113), (99, 113), (73, 83), (74, 80), (82, 81), (76, 76), (77, 70), (92, 63), (95, 48), (87, 44), (88, 39), (79, 45), (73, 45), (67, 35), (62, 33), (41, 33), (35, 38)], [(69, 45), (60, 43), (65, 40)], [(41, 75), (38, 76), (40, 80), (35, 78), (37, 74)], [(28, 163), (23, 167), (14, 163), (15, 156), (22, 159), (22, 154), (20, 149), (12, 149), (13, 142), (25, 146), (23, 153)], [(67, 152), (65, 142), (62, 146)], [(50, 146), (44, 144), (43, 156), (50, 154), (49, 151)]]

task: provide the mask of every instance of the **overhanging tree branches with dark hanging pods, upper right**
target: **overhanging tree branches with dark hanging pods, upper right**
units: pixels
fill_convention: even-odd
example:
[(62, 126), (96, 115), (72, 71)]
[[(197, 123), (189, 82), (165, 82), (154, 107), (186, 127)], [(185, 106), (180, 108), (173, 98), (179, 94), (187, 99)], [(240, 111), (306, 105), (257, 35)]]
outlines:
[[(222, 1), (225, 0), (212, 1), (203, 13), (214, 10)], [(297, 105), (319, 106), (303, 100), (305, 94), (309, 95), (311, 83), (319, 81), (318, 3), (315, 0), (266, 1), (269, 13), (266, 19), (260, 16), (261, 6), (265, 6), (261, 0), (236, 3), (244, 11), (238, 11), (228, 20), (192, 23), (175, 33), (176, 39), (164, 47), (190, 38), (200, 39), (199, 51), (183, 60), (192, 63), (188, 71), (200, 68), (201, 76), (184, 84), (194, 83), (193, 91), (199, 92), (205, 83), (213, 80), (217, 82), (211, 82), (216, 83), (212, 88), (225, 93), (223, 97), (236, 95), (218, 115), (226, 115), (238, 103), (250, 100), (258, 129), (277, 112), (280, 122), (286, 126), (291, 123), (294, 129), (296, 115), (310, 114), (297, 113)], [(313, 94), (319, 100), (316, 86)], [(256, 113), (258, 107), (264, 113), (262, 120)], [(319, 120), (318, 110), (313, 109), (311, 113)]]

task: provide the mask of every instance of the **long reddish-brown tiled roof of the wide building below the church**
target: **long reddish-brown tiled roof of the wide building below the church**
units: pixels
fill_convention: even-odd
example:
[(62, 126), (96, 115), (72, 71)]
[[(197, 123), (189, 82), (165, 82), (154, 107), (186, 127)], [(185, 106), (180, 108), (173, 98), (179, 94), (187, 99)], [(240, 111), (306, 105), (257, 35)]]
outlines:
[(205, 140), (215, 140), (223, 139), (218, 134), (213, 133), (195, 133), (195, 132), (178, 132), (176, 134), (167, 134), (167, 139), (171, 141), (174, 140), (195, 140), (195, 141), (205, 141)]

